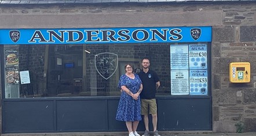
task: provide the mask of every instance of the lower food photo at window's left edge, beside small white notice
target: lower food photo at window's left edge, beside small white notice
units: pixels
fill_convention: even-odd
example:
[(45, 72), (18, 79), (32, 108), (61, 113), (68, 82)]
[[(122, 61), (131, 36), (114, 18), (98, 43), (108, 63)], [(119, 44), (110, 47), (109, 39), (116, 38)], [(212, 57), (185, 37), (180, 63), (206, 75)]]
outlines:
[(19, 71), (6, 71), (6, 82), (8, 85), (19, 85)]

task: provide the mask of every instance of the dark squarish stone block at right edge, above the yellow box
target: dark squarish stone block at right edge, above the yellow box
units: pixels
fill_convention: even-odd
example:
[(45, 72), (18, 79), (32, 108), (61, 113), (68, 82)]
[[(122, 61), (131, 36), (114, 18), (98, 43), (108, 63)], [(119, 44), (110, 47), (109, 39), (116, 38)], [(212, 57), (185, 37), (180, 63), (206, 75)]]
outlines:
[(240, 41), (256, 41), (256, 25), (241, 26)]

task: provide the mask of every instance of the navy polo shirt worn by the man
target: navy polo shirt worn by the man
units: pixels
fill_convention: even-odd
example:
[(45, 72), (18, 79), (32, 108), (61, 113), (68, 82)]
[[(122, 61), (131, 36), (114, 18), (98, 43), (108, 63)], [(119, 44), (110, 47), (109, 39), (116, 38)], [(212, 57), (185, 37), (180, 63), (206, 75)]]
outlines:
[(143, 84), (143, 90), (140, 93), (141, 99), (155, 99), (156, 98), (156, 82), (159, 81), (158, 75), (153, 70), (148, 70), (145, 73), (143, 70), (138, 73)]

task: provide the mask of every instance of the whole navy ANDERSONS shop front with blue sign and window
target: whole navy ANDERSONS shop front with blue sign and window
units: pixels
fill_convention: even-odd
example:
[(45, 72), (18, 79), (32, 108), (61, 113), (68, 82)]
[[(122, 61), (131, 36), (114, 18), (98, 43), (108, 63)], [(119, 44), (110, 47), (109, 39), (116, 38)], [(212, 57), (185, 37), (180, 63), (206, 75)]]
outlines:
[(125, 64), (140, 72), (144, 57), (161, 83), (158, 130), (212, 130), (211, 31), (0, 29), (2, 133), (126, 131), (117, 85)]

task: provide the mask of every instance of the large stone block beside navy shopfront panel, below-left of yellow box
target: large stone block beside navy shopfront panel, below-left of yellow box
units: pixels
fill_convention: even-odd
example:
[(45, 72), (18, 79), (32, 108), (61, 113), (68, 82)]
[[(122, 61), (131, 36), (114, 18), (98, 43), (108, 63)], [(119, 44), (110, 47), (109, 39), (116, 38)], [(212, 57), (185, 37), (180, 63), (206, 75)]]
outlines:
[(225, 88), (221, 90), (213, 90), (213, 105), (235, 105), (236, 90), (233, 88)]

